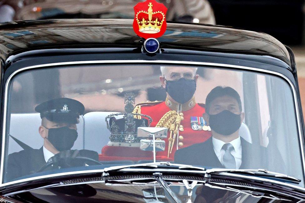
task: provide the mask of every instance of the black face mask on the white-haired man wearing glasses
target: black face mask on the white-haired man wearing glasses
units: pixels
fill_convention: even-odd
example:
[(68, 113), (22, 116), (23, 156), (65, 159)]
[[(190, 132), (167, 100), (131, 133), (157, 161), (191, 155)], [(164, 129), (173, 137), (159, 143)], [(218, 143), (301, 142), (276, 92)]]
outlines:
[(193, 97), (196, 90), (196, 82), (195, 79), (186, 80), (184, 77), (178, 81), (167, 80), (165, 90), (175, 101), (184, 104)]

